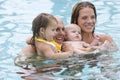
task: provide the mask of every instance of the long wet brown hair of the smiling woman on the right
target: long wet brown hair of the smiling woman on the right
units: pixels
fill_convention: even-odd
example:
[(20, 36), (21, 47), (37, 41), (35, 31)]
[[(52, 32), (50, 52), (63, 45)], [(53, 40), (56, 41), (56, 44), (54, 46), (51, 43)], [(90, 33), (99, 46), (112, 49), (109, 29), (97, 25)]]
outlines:
[[(88, 1), (84, 1), (84, 2), (78, 2), (73, 7), (72, 16), (71, 16), (71, 23), (78, 24), (79, 11), (85, 7), (92, 8), (94, 10), (95, 19), (97, 19), (97, 13), (96, 13), (96, 8), (95, 8), (94, 4), (92, 4)], [(93, 30), (93, 33), (94, 33), (94, 30)]]

